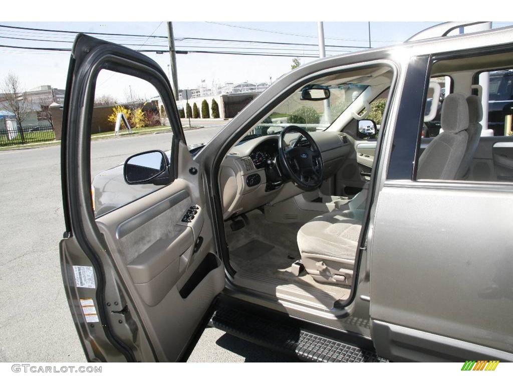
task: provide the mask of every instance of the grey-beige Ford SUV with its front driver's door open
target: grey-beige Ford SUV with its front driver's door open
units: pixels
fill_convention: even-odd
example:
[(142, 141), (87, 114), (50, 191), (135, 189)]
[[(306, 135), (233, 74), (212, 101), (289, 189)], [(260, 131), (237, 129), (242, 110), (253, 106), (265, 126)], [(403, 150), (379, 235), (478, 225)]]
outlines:
[[(301, 66), (193, 150), (160, 66), (78, 35), (60, 254), (87, 359), (186, 360), (210, 324), (306, 361), (512, 361), (513, 136), (480, 137), (472, 90), (476, 74), (513, 68), (513, 29), (447, 36), (459, 27)], [(95, 212), (105, 69), (151, 83), (173, 134), (99, 173), (115, 204)], [(453, 79), (442, 130), (422, 138), (440, 76)], [(269, 119), (293, 110), (293, 123)]]

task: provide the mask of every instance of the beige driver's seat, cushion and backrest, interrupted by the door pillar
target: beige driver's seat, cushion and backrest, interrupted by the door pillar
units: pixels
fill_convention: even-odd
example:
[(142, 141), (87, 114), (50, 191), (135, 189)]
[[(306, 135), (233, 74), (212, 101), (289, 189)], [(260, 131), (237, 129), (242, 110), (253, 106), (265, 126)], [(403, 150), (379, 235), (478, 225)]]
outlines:
[[(429, 143), (420, 158), (419, 178), (456, 176), (467, 145), (468, 106), (464, 95), (445, 98), (441, 123), (444, 132)], [(351, 285), (362, 224), (350, 214), (334, 210), (313, 218), (298, 231), (301, 260), (315, 281)]]

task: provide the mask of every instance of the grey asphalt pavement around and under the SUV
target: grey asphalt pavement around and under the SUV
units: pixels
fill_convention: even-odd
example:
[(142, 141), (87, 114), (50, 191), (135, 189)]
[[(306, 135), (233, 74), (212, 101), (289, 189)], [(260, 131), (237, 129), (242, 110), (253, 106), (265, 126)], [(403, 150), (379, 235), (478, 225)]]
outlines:
[[(185, 121), (184, 121), (185, 123)], [(199, 123), (194, 122), (194, 123)], [(226, 121), (185, 132), (207, 142)], [(110, 138), (91, 144), (91, 173), (152, 148), (171, 134)], [(64, 232), (60, 146), (0, 151), (0, 361), (83, 362), (58, 258)], [(206, 329), (190, 361), (287, 361), (216, 329)]]

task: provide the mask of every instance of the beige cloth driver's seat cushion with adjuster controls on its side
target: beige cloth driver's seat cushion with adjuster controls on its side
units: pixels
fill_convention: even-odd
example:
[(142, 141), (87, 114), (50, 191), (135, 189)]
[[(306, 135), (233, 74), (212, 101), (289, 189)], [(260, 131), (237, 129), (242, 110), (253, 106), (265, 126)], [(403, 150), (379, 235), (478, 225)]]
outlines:
[(328, 212), (313, 218), (298, 232), (303, 265), (316, 281), (351, 284), (362, 225), (347, 214)]

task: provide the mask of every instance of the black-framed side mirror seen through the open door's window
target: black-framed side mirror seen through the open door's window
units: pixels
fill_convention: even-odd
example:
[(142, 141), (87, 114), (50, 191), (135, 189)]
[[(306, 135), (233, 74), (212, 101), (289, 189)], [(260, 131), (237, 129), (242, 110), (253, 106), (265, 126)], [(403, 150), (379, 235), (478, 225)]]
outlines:
[(125, 161), (123, 176), (127, 184), (169, 184), (169, 160), (162, 151), (132, 155)]

